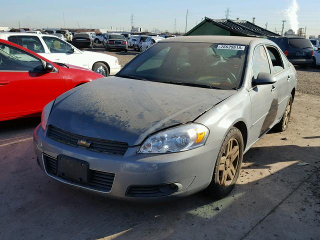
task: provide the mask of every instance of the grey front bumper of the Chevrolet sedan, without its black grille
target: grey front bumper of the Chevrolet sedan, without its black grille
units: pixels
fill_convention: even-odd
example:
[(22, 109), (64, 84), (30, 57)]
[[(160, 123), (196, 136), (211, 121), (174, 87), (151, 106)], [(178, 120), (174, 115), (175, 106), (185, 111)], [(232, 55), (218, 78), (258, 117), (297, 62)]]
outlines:
[[(179, 198), (204, 189), (211, 181), (220, 144), (221, 141), (216, 141), (188, 151), (168, 154), (136, 154), (138, 147), (129, 147), (124, 155), (112, 155), (57, 142), (47, 137), (40, 125), (33, 134), (33, 146), (39, 165), (50, 177), (106, 197), (148, 202)], [(46, 170), (43, 154), (53, 158), (59, 154), (67, 155), (87, 161), (91, 170), (114, 173), (111, 189), (104, 192), (50, 174)], [(135, 197), (127, 194), (132, 185), (169, 183), (178, 183), (182, 187), (162, 196)]]

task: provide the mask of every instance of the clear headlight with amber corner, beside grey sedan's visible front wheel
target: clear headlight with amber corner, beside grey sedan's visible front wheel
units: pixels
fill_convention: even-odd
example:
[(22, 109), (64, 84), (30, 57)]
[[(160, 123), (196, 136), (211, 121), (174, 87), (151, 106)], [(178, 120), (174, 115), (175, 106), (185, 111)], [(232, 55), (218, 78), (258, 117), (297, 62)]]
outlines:
[(209, 129), (199, 123), (184, 124), (149, 136), (137, 153), (166, 153), (189, 150), (205, 143)]

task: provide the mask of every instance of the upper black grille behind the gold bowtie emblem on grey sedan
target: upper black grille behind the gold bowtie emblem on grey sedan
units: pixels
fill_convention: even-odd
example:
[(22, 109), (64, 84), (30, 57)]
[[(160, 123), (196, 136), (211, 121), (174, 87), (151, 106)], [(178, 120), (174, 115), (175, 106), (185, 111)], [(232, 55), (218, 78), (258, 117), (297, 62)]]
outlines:
[(111, 140), (104, 140), (104, 139), (93, 138), (88, 136), (81, 136), (78, 134), (74, 134), (74, 133), (62, 130), (52, 125), (49, 125), (47, 135), (48, 137), (56, 141), (59, 141), (71, 146), (76, 146), (76, 147), (79, 146), (77, 144), (78, 140), (85, 140), (86, 142), (90, 143), (89, 147), (84, 147), (87, 150), (98, 151), (98, 152), (103, 152), (108, 154), (123, 155), (126, 149), (128, 148), (128, 143), (126, 142), (111, 141)]

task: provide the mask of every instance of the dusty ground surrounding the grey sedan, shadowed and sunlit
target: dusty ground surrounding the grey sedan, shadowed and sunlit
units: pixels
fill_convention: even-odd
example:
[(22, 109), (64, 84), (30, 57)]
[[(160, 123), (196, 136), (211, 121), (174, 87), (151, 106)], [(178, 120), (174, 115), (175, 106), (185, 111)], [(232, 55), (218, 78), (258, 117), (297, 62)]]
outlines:
[[(307, 74), (319, 85), (318, 71)], [(235, 188), (217, 201), (200, 192), (135, 204), (71, 188), (35, 161), (40, 119), (0, 123), (0, 239), (319, 239), (320, 94), (299, 89), (288, 130), (254, 144)]]

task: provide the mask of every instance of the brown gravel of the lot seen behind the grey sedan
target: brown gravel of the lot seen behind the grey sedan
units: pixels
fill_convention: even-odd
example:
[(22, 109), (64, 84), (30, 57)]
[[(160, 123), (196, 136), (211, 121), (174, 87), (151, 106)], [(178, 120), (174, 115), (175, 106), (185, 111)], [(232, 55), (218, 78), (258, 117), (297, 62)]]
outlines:
[[(102, 45), (95, 45), (93, 49), (87, 49), (96, 52), (107, 53), (116, 56), (119, 59), (119, 63), (123, 66), (129, 60), (131, 60), (139, 52), (129, 49), (128, 52), (115, 52), (104, 51)], [(297, 72), (297, 91), (301, 93), (308, 93), (312, 95), (320, 95), (320, 68), (300, 68), (296, 66)]]

